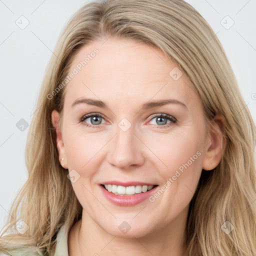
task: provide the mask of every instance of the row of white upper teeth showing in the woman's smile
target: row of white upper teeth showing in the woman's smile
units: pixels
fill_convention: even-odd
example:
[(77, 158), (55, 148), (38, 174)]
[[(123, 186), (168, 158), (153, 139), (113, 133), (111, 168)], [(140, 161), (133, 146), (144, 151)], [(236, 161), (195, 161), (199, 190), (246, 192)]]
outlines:
[(137, 186), (117, 186), (117, 185), (111, 185), (111, 184), (105, 184), (104, 185), (106, 190), (109, 192), (112, 192), (114, 194), (118, 195), (132, 195), (135, 193), (141, 193), (146, 192), (152, 189), (153, 185), (137, 185)]

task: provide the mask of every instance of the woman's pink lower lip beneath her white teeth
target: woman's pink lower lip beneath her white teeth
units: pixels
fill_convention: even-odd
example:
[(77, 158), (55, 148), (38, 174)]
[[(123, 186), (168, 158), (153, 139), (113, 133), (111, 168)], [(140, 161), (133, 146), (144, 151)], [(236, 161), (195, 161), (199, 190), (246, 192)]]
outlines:
[(155, 189), (158, 186), (153, 187), (151, 190), (146, 192), (137, 193), (134, 195), (116, 195), (112, 192), (107, 191), (102, 185), (99, 185), (102, 190), (103, 195), (106, 197), (108, 201), (118, 206), (133, 206), (136, 205), (146, 198), (148, 198), (151, 194), (154, 193)]

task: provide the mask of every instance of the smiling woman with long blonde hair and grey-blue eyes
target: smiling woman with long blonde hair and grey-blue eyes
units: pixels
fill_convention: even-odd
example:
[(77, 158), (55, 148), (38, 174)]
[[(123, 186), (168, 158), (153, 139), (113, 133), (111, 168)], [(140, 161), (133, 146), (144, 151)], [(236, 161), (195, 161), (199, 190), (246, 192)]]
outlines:
[(37, 107), (1, 252), (256, 255), (254, 123), (188, 3), (84, 5)]

